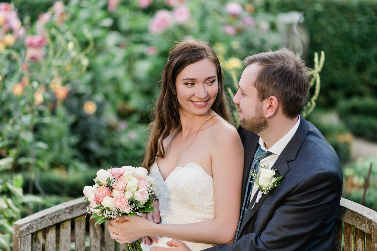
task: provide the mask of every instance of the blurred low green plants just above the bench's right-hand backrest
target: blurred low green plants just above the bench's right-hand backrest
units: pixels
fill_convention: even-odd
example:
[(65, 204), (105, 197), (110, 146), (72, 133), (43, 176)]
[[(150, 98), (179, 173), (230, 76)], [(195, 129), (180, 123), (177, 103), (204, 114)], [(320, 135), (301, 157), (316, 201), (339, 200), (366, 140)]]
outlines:
[(372, 164), (369, 176), (368, 188), (366, 190), (364, 205), (373, 210), (377, 210), (377, 157), (370, 157), (356, 163), (348, 164), (343, 168), (344, 184), (342, 197), (362, 202), (365, 181)]

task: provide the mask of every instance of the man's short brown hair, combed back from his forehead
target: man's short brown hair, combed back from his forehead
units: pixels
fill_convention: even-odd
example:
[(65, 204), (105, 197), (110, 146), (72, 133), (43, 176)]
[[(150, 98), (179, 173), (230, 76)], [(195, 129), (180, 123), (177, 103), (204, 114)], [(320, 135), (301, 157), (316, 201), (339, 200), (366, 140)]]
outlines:
[(286, 117), (297, 117), (308, 98), (309, 69), (305, 63), (287, 48), (244, 59), (246, 66), (254, 63), (262, 66), (254, 83), (259, 101), (275, 96)]

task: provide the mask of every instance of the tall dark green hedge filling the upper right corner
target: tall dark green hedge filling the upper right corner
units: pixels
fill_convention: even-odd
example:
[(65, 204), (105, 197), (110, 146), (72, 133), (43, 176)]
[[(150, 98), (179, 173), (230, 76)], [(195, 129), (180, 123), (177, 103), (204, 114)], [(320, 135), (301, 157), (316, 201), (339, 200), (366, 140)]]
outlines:
[(376, 0), (270, 0), (270, 12), (303, 11), (314, 52), (326, 55), (317, 104), (334, 106), (353, 96), (377, 96)]

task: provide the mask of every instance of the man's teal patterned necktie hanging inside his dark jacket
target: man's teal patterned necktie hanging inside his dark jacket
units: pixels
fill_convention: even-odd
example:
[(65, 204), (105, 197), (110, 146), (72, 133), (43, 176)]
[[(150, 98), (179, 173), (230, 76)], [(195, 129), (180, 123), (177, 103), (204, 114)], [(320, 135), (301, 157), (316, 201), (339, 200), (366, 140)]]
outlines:
[(264, 150), (262, 150), (261, 145), (259, 145), (259, 147), (258, 147), (258, 149), (257, 149), (257, 151), (254, 155), (254, 160), (253, 160), (253, 163), (251, 164), (251, 168), (250, 168), (249, 178), (247, 180), (244, 204), (242, 205), (241, 215), (239, 217), (238, 228), (237, 228), (236, 238), (234, 239), (234, 242), (236, 242), (238, 240), (239, 228), (241, 227), (242, 220), (244, 219), (245, 211), (246, 211), (247, 205), (249, 204), (249, 201), (250, 201), (251, 191), (253, 190), (253, 184), (254, 183), (250, 182), (251, 177), (252, 177), (251, 173), (253, 173), (254, 171), (257, 170), (259, 162), (262, 159), (264, 159), (267, 156), (270, 156), (271, 154), (272, 154), (272, 152), (268, 152), (268, 151), (265, 152)]

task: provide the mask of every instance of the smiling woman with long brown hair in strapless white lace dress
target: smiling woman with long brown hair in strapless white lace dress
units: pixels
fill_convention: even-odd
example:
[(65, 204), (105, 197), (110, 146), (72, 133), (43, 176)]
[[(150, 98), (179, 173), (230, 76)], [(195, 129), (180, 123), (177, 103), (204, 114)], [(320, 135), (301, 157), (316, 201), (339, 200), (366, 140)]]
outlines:
[[(227, 122), (222, 78), (208, 43), (184, 41), (170, 52), (143, 162), (156, 179), (162, 224), (141, 216), (109, 221), (119, 243), (153, 236), (151, 246), (167, 247), (168, 240), (178, 239), (196, 251), (234, 241), (244, 149)], [(151, 247), (146, 242), (148, 237), (144, 251)]]

